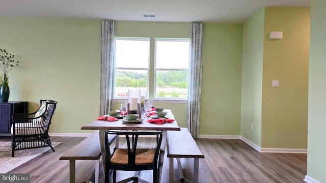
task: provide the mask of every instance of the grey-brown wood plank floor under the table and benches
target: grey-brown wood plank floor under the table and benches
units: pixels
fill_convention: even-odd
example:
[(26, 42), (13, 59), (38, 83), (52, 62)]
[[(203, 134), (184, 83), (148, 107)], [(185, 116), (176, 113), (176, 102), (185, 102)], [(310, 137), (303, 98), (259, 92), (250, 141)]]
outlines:
[[(52, 142), (62, 142), (55, 147), (54, 153), (49, 150), (9, 173), (30, 173), (31, 183), (69, 182), (69, 161), (59, 158), (83, 139), (84, 137), (51, 137)], [(0, 141), (10, 141), (10, 137), (0, 137)], [(305, 182), (306, 154), (259, 153), (239, 139), (196, 139), (196, 142), (205, 156), (205, 159), (199, 160), (199, 182)], [(145, 143), (151, 143), (151, 139)], [(192, 160), (182, 159), (181, 162), (185, 177), (191, 177)], [(100, 182), (103, 182), (102, 167), (100, 170)], [(77, 160), (76, 182), (94, 181), (94, 171), (94, 161)], [(177, 171), (175, 174), (177, 178)], [(132, 172), (117, 173), (118, 178), (129, 175)], [(151, 171), (140, 174), (148, 181), (151, 181), (151, 175)], [(161, 182), (169, 182), (167, 157)]]

